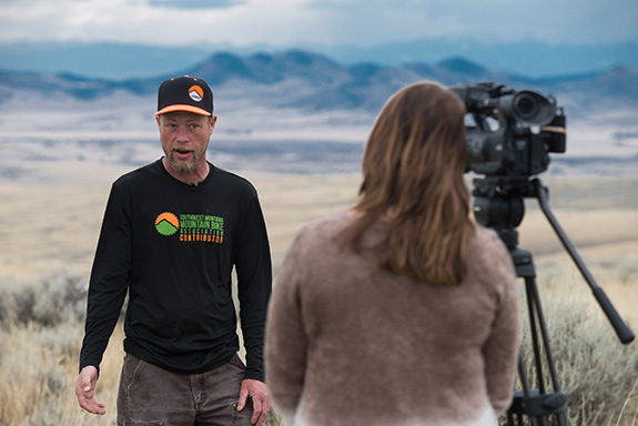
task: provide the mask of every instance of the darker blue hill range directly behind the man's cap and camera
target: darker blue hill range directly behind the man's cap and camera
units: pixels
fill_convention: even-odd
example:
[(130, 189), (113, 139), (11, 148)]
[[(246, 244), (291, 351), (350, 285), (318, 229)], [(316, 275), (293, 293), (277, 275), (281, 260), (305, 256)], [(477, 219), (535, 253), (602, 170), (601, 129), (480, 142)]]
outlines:
[(530, 79), (487, 69), (464, 58), (397, 67), (377, 63), (343, 64), (316, 53), (290, 50), (281, 53), (237, 55), (215, 53), (183, 70), (144, 79), (109, 80), (70, 73), (42, 74), (0, 71), (0, 103), (18, 92), (97, 99), (114, 91), (154, 95), (166, 78), (196, 75), (213, 91), (232, 88), (234, 95), (274, 108), (307, 110), (362, 109), (378, 111), (401, 87), (422, 80), (445, 85), (494, 81), (517, 90), (553, 93), (571, 114), (598, 108), (638, 108), (638, 69), (615, 67), (600, 72)]

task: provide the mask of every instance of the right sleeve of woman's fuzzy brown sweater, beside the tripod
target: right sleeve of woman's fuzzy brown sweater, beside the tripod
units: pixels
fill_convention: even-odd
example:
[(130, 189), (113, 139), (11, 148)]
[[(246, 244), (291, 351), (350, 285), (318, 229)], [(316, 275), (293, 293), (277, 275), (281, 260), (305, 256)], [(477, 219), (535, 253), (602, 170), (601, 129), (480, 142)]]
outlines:
[(500, 290), (498, 307), (492, 333), (483, 346), (487, 393), (497, 415), (504, 413), (512, 403), (516, 365), (519, 353), (519, 307), (516, 273), (512, 257), (500, 240), (494, 235), (494, 280)]

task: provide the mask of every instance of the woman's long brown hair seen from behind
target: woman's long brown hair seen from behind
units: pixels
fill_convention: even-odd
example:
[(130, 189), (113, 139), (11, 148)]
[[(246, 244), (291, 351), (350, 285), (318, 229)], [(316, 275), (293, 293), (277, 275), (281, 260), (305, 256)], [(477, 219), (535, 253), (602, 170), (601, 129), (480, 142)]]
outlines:
[(379, 113), (363, 159), (357, 221), (345, 244), (389, 214), (381, 266), (429, 284), (460, 284), (474, 232), (466, 164), (465, 105), (436, 83), (394, 94)]

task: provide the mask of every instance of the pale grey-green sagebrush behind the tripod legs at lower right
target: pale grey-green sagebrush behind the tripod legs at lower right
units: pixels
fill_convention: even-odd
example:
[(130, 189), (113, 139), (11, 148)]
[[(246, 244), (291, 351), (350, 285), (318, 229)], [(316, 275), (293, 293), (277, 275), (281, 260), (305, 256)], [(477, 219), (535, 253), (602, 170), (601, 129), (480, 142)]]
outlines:
[[(569, 395), (568, 424), (637, 425), (638, 345), (618, 341), (581, 285), (545, 282), (539, 290), (558, 382)], [(528, 321), (524, 320), (524, 358), (529, 381), (538, 388)], [(546, 363), (544, 377), (548, 392), (553, 392)]]

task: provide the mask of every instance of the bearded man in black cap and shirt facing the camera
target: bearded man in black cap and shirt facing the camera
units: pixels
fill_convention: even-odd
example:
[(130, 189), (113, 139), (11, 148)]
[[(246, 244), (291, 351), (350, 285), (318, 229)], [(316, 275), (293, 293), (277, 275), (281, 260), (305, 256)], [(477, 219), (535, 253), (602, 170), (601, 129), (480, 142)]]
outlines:
[(107, 204), (78, 402), (105, 412), (94, 398), (99, 365), (128, 294), (118, 425), (262, 425), (271, 409), (263, 334), (272, 266), (256, 191), (206, 161), (217, 116), (205, 81), (164, 81), (155, 115), (165, 155), (117, 180)]

